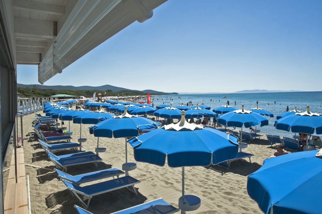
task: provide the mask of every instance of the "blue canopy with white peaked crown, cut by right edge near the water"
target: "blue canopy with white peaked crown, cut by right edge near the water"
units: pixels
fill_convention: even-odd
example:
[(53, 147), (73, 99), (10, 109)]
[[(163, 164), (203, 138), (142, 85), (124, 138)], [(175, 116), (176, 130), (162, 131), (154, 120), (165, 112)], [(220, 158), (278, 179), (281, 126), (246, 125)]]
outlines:
[(289, 115), (280, 118), (275, 121), (274, 126), (277, 129), (284, 131), (299, 132), (305, 134), (322, 134), (322, 115), (319, 113), (311, 113), (309, 106), (307, 106), (307, 111), (302, 113), (295, 113), (294, 115)]

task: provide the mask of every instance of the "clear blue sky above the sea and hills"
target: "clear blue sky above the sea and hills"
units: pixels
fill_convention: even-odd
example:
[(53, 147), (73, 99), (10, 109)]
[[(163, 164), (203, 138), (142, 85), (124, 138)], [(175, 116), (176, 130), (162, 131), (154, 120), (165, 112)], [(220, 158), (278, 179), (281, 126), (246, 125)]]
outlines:
[[(39, 84), (37, 66), (17, 72)], [(321, 91), (321, 74), (322, 1), (169, 0), (44, 84)]]

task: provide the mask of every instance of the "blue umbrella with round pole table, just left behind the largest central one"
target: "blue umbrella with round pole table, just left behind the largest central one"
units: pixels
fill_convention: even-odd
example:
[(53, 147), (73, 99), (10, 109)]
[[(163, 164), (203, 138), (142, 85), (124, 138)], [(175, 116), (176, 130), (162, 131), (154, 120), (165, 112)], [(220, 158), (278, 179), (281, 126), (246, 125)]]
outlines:
[[(122, 165), (122, 169), (125, 170), (126, 175), (128, 175), (128, 169), (135, 166), (135, 163), (128, 163), (127, 154), (127, 137), (134, 137), (139, 135), (140, 126), (146, 128), (154, 128), (159, 126), (148, 118), (139, 117), (137, 115), (129, 115), (127, 112), (127, 107), (124, 109), (124, 113), (120, 116), (114, 116), (110, 119), (99, 122), (94, 127), (90, 127), (93, 131), (95, 137), (125, 137), (125, 163)], [(135, 169), (134, 168), (134, 169)]]

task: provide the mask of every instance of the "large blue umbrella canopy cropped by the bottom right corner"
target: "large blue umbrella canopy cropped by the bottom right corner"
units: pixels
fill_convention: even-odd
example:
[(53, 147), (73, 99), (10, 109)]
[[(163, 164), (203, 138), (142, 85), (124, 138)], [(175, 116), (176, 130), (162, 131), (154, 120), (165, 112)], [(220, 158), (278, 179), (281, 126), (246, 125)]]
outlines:
[(264, 160), (247, 180), (249, 196), (266, 214), (320, 214), (322, 159), (317, 150)]

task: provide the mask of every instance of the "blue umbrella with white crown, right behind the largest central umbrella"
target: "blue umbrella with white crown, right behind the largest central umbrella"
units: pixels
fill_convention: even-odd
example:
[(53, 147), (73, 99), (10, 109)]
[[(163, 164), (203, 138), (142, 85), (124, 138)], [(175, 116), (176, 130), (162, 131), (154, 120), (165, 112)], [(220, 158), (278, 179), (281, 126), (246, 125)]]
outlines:
[[(249, 128), (251, 126), (267, 126), (268, 119), (260, 114), (252, 111), (244, 110), (244, 105), (242, 109), (231, 111), (220, 115), (217, 117), (217, 123), (224, 126), (234, 126), (241, 128), (241, 141), (242, 141), (242, 127)], [(239, 147), (240, 152), (242, 151), (242, 146)]]

